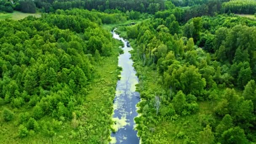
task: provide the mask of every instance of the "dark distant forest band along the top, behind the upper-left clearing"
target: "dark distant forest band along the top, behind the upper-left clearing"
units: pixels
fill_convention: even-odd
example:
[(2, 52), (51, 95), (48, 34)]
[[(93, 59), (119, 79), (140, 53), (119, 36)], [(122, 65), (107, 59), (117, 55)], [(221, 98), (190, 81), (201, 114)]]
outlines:
[(120, 11), (139, 11), (155, 13), (165, 9), (164, 0), (0, 0), (0, 11), (12, 13), (13, 10), (25, 13), (35, 13), (36, 8), (49, 13), (57, 9), (72, 8), (96, 9), (105, 11), (117, 9)]

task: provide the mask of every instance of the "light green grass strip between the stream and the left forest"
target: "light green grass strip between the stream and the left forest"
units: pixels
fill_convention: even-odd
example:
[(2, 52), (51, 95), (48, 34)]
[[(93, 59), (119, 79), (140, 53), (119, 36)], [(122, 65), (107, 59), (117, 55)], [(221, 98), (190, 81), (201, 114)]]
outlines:
[(84, 127), (87, 127), (88, 143), (107, 143), (110, 141), (110, 125), (112, 125), (113, 100), (120, 70), (118, 69), (119, 41), (110, 57), (104, 57), (96, 65), (96, 79), (92, 83), (90, 93), (85, 97), (83, 115)]

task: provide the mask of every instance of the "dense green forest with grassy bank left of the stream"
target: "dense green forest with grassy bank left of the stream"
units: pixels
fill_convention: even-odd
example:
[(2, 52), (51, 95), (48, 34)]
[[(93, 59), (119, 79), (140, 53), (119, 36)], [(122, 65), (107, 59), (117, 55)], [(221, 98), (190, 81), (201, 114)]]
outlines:
[[(63, 142), (109, 139), (109, 98), (115, 93), (120, 44), (99, 26), (106, 15), (74, 9), (45, 14), (40, 19), (30, 16), (21, 21), (0, 21), (0, 143), (24, 137), (28, 138), (19, 142), (27, 143), (35, 137), (38, 142), (51, 137)], [(123, 16), (117, 19), (116, 14), (108, 17), (126, 20)], [(110, 81), (97, 72), (104, 69), (101, 64), (106, 65), (104, 74), (112, 78)], [(98, 91), (93, 91), (94, 83), (104, 91), (103, 106), (98, 104), (101, 109), (106, 105), (105, 110), (85, 107), (95, 103), (85, 99)], [(96, 110), (103, 113), (99, 115)], [(87, 115), (90, 119), (84, 120)], [(88, 127), (95, 123), (101, 126)]]

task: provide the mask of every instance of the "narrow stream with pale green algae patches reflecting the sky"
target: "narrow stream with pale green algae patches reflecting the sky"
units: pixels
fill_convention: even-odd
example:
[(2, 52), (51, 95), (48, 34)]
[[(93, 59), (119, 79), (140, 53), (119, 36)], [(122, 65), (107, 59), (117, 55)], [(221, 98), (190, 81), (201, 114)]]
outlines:
[[(128, 41), (113, 31), (113, 37), (117, 40), (122, 40), (124, 53), (120, 54), (118, 65), (123, 68), (121, 72), (121, 79), (117, 81), (115, 101), (114, 101), (114, 115), (113, 119), (116, 121), (113, 128), (115, 133), (111, 133), (111, 143), (116, 144), (139, 144), (137, 131), (135, 128), (134, 117), (138, 115), (136, 112), (136, 104), (140, 101), (140, 95), (136, 92), (136, 84), (139, 83), (136, 71), (133, 68), (133, 61), (131, 60), (131, 51), (133, 48), (127, 47)], [(128, 45), (129, 46), (129, 45)]]

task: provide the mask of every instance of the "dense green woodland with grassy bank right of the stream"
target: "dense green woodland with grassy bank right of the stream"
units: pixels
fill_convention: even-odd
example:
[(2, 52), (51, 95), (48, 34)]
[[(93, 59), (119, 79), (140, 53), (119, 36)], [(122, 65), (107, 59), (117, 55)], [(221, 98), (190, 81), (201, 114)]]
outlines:
[(256, 21), (230, 14), (179, 25), (174, 14), (120, 27), (135, 48), (138, 135), (161, 144), (255, 142)]

